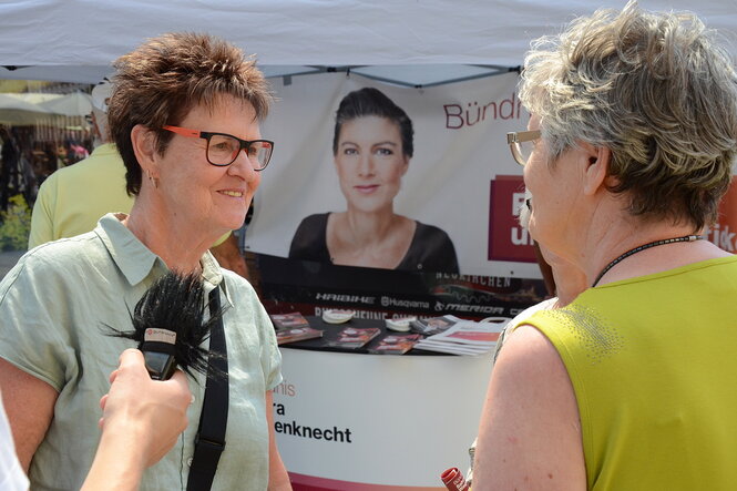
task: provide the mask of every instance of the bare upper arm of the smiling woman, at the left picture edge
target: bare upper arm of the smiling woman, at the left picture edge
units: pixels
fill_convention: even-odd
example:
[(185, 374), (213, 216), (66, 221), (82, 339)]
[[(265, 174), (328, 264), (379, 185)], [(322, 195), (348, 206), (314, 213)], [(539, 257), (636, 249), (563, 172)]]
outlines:
[(0, 389), (18, 460), (28, 473), (33, 454), (53, 418), (59, 393), (49, 383), (3, 359), (0, 359)]

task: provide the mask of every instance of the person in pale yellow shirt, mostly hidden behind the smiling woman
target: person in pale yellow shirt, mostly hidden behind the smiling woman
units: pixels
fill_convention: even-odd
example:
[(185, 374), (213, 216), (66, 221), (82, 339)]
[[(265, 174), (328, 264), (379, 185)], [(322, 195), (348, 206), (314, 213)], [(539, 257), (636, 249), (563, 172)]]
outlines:
[[(133, 196), (125, 192), (125, 165), (108, 133), (108, 100), (112, 84), (92, 89), (92, 130), (95, 149), (88, 158), (51, 174), (39, 188), (31, 214), (28, 248), (92, 231), (111, 212), (129, 213)], [(211, 252), (221, 266), (248, 278), (248, 267), (231, 232)]]

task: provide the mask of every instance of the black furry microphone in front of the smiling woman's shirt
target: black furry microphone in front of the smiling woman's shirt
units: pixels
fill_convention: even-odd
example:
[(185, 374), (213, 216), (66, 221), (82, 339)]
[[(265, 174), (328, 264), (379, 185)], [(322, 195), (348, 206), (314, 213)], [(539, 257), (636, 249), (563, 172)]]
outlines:
[[(217, 294), (217, 291), (215, 293)], [(132, 331), (113, 336), (139, 341), (146, 369), (154, 380), (166, 380), (178, 366), (184, 372), (222, 376), (212, 361), (222, 355), (203, 348), (211, 327), (223, 316), (222, 309), (211, 308), (205, 319), (205, 288), (198, 274), (180, 275), (168, 272), (143, 294), (135, 305)], [(215, 310), (215, 311), (213, 311)]]

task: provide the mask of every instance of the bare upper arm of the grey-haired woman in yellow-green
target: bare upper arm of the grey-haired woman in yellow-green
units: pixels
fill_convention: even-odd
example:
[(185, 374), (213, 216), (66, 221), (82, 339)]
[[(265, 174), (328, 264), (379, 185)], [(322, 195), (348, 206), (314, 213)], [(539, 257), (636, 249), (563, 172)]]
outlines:
[(492, 370), (481, 416), (474, 489), (577, 491), (586, 469), (575, 393), (538, 329), (510, 335)]

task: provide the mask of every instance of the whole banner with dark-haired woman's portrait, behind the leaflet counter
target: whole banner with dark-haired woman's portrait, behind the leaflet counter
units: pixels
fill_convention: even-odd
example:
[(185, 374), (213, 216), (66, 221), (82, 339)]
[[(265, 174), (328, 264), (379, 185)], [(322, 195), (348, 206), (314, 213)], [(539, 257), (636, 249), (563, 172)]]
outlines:
[[(481, 319), (513, 316), (540, 301), (545, 294), (540, 270), (531, 241), (518, 224), (522, 167), (505, 140), (506, 132), (528, 124), (516, 95), (518, 81), (516, 73), (424, 89), (345, 73), (275, 81), (278, 103), (262, 126), (263, 137), (275, 141), (275, 152), (263, 173), (246, 234), (246, 248), (258, 254), (267, 309), (319, 315), (323, 308), (336, 307), (359, 310), (368, 318), (454, 314)], [(381, 129), (361, 123), (357, 131), (342, 122), (335, 137), (341, 101), (367, 88), (378, 90), (411, 121), (413, 151), (411, 157), (405, 155), (406, 162), (399, 158), (403, 155), (399, 149), (407, 147), (400, 123), (395, 124), (393, 136), (385, 137)], [(377, 132), (380, 135), (371, 140)], [(370, 146), (373, 143), (376, 149)], [(386, 154), (383, 162), (395, 158), (397, 171), (386, 177), (385, 171), (372, 168), (378, 177), (359, 182), (362, 188), (354, 192), (356, 175), (369, 172), (351, 175), (345, 168), (354, 165), (348, 158), (358, 162), (357, 155), (368, 154), (365, 149), (377, 158), (371, 165), (388, 165), (379, 162)], [(331, 227), (345, 229), (336, 224), (349, 208), (360, 208), (368, 223), (373, 212), (366, 212), (371, 204), (366, 205), (365, 195), (373, 187), (389, 188), (393, 196), (379, 209), (389, 203), (395, 216), (417, 223), (414, 234), (421, 227), (436, 234), (419, 247), (412, 238), (397, 267), (392, 266), (397, 258), (368, 267), (370, 258), (351, 264), (332, 257)], [(295, 244), (300, 241), (307, 241), (310, 254), (319, 253), (297, 260)], [(313, 245), (316, 241), (319, 246)], [(446, 260), (447, 242), (452, 243), (453, 260)], [(431, 258), (436, 243), (443, 245)], [(412, 250), (423, 258), (408, 260), (414, 257)]]

